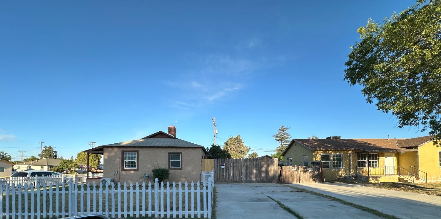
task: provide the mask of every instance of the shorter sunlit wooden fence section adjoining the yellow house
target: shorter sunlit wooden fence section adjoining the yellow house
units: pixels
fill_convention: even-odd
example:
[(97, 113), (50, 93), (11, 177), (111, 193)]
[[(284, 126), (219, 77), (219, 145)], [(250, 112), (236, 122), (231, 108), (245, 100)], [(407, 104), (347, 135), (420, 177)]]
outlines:
[(319, 166), (280, 166), (280, 183), (323, 183)]

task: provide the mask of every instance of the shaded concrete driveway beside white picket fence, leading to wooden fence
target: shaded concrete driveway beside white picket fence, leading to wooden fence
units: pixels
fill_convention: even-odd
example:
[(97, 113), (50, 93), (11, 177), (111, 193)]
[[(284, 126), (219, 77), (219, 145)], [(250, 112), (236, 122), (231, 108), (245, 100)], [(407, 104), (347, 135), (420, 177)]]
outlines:
[(228, 183), (215, 184), (217, 191), (216, 216), (218, 219), (295, 218), (280, 207), (278, 200), (310, 219), (380, 218), (357, 208), (331, 201), (310, 193), (298, 192), (276, 183)]

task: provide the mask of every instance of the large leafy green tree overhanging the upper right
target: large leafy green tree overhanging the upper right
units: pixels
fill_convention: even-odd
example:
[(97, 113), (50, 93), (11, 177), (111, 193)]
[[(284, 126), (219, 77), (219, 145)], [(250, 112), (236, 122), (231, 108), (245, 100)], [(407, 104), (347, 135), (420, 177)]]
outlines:
[(418, 0), (382, 23), (369, 19), (351, 47), (344, 80), (368, 103), (441, 140), (441, 0)]

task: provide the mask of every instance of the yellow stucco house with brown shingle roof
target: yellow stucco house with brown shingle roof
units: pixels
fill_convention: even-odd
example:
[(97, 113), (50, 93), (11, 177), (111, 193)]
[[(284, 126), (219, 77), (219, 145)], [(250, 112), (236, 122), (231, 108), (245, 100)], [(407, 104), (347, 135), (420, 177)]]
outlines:
[(292, 139), (285, 165), (321, 161), (325, 180), (350, 176), (370, 182), (441, 181), (441, 147), (433, 136), (413, 139)]

